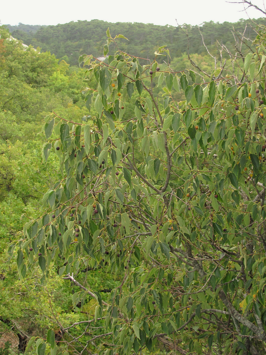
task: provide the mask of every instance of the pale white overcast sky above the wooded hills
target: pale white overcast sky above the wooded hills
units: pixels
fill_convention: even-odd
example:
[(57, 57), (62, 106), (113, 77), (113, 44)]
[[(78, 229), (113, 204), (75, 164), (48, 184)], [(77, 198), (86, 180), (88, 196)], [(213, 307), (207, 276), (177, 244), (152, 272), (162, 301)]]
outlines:
[[(241, 2), (242, 0), (232, 0)], [(266, 1), (266, 0), (265, 0)], [(251, 0), (264, 9), (264, 0)], [(266, 3), (265, 3), (266, 5)], [(79, 1), (73, 0), (12, 0), (1, 4), (0, 23), (56, 25), (78, 20), (107, 22), (143, 22), (159, 25), (201, 24), (203, 22), (236, 22), (240, 18), (264, 15), (243, 4), (226, 0), (167, 0), (167, 1)]]

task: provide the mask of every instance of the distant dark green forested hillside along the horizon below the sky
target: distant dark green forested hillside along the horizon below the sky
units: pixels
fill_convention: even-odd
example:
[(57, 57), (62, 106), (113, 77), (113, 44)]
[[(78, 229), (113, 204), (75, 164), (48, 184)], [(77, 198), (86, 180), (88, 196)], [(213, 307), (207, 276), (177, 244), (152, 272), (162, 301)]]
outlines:
[[(254, 20), (256, 23), (266, 24), (265, 18)], [(56, 26), (42, 26), (37, 31), (35, 27), (18, 28), (7, 25), (13, 37), (21, 39), (27, 45), (34, 48), (41, 47), (42, 51), (49, 50), (57, 58), (64, 59), (71, 65), (78, 65), (80, 55), (93, 54), (94, 57), (103, 56), (102, 48), (106, 42), (105, 32), (110, 29), (110, 33), (122, 33), (129, 41), (120, 43), (120, 49), (126, 53), (142, 58), (152, 58), (154, 52), (161, 45), (166, 45), (170, 50), (171, 58), (181, 56), (187, 52), (187, 35), (189, 35), (190, 53), (205, 54), (206, 49), (200, 32), (204, 37), (204, 42), (209, 50), (218, 53), (220, 47), (216, 40), (222, 45), (226, 45), (229, 50), (234, 49), (234, 28), (235, 37), (243, 34), (244, 37), (253, 40), (256, 37), (254, 31), (255, 23), (251, 20), (241, 20), (236, 23), (214, 23), (204, 22), (201, 26), (191, 26), (183, 24), (181, 27), (156, 26), (144, 23), (111, 23), (100, 20), (78, 21)], [(246, 27), (246, 29), (245, 29)], [(200, 32), (199, 32), (200, 29)], [(239, 38), (238, 38), (238, 43)], [(115, 50), (115, 45), (111, 44), (110, 50)], [(162, 60), (159, 59), (159, 61)]]

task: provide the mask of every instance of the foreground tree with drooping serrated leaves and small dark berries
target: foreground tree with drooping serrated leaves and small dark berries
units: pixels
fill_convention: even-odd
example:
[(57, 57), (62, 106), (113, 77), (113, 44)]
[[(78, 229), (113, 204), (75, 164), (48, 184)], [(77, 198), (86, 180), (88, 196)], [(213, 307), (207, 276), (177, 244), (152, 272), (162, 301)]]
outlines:
[[(124, 38), (106, 34), (105, 56)], [(265, 349), (260, 39), (255, 51), (234, 57), (238, 75), (216, 68), (203, 84), (192, 70), (161, 71), (157, 58), (170, 56), (165, 47), (144, 65), (118, 47), (108, 64), (82, 56), (86, 78), (98, 83), (82, 89), (89, 115), (81, 123), (56, 114), (47, 120), (46, 138), (54, 136), (43, 157), (56, 152), (62, 180), (45, 193), (43, 215), (9, 247), (20, 278), (39, 265), (45, 283), (49, 265), (61, 258), (59, 275), (76, 286), (73, 306), (97, 301), (94, 318), (70, 327), (51, 314), (70, 353)], [(106, 298), (86, 281), (99, 268), (119, 281)], [(56, 354), (52, 329), (46, 343), (37, 340), (38, 354), (46, 344)]]

